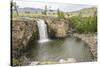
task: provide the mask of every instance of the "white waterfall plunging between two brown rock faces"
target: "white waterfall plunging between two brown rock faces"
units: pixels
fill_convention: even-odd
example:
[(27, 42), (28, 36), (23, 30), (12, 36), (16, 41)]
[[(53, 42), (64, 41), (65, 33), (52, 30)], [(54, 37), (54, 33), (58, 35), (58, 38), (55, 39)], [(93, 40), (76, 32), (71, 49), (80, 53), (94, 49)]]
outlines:
[(39, 42), (47, 42), (49, 39), (47, 34), (47, 25), (45, 24), (44, 20), (38, 19), (37, 26), (39, 30)]

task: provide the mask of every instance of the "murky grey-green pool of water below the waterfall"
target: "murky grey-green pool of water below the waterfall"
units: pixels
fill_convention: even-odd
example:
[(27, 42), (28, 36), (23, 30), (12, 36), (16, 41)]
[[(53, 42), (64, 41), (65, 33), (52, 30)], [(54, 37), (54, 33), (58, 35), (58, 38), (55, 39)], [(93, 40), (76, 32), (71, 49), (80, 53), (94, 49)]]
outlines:
[(58, 62), (60, 59), (74, 58), (77, 62), (92, 60), (89, 47), (81, 39), (68, 36), (65, 39), (56, 39), (44, 43), (32, 43), (27, 50), (31, 61)]

